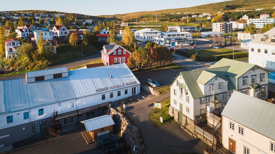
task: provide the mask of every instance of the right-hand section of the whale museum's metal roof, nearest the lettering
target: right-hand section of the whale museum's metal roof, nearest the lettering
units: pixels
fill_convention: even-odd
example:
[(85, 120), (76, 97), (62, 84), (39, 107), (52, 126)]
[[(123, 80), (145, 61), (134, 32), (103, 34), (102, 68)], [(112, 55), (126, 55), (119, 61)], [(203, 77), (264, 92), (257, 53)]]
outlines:
[(135, 81), (133, 86), (140, 84), (125, 63), (72, 70), (69, 71), (69, 78), (77, 96), (98, 93), (97, 89), (105, 87), (108, 89), (101, 92), (120, 89), (123, 84)]

